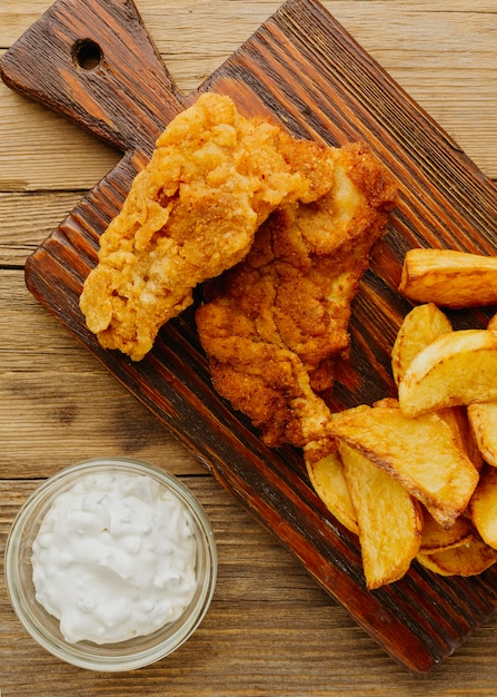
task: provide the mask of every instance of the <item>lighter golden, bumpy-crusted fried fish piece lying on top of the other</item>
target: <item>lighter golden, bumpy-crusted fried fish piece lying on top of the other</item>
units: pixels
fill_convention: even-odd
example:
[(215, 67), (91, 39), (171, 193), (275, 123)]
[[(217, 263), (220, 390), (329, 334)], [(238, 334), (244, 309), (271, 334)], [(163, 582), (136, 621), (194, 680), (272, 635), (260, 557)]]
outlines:
[(198, 283), (237, 264), (277, 206), (329, 190), (332, 168), (332, 148), (245, 118), (228, 97), (199, 97), (159, 137), (100, 238), (80, 298), (87, 326), (139, 361)]

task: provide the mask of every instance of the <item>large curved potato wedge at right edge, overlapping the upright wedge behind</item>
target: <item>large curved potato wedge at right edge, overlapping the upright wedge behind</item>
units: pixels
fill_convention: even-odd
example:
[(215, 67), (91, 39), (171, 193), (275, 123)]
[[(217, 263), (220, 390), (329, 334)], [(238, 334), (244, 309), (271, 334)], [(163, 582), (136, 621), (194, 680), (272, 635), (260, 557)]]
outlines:
[(439, 336), (412, 360), (398, 393), (407, 416), (497, 401), (497, 332), (464, 330)]

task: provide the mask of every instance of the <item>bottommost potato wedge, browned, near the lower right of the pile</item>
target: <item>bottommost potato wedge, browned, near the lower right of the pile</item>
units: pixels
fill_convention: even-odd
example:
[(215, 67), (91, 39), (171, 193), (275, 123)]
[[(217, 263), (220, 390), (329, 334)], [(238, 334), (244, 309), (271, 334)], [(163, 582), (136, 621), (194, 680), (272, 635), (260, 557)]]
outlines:
[(474, 537), (467, 544), (434, 554), (419, 553), (416, 559), (440, 576), (478, 576), (497, 561), (497, 550)]

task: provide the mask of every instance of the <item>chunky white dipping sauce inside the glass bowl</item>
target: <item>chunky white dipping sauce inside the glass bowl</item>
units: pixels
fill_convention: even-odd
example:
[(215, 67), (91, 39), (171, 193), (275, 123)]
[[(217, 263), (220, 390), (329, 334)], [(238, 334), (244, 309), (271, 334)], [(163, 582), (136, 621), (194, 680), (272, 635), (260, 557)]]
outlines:
[(158, 482), (88, 474), (54, 500), (33, 542), (37, 600), (70, 642), (148, 635), (192, 600), (196, 549), (188, 512)]

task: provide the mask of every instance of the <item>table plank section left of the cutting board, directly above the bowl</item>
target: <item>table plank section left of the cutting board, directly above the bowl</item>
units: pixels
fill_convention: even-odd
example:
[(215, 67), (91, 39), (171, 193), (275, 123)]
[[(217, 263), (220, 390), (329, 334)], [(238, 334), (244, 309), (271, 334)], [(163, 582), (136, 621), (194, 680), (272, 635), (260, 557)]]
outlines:
[(22, 272), (0, 269), (0, 306), (2, 478), (50, 477), (74, 461), (112, 453), (175, 474), (205, 472), (69, 333), (60, 333)]

